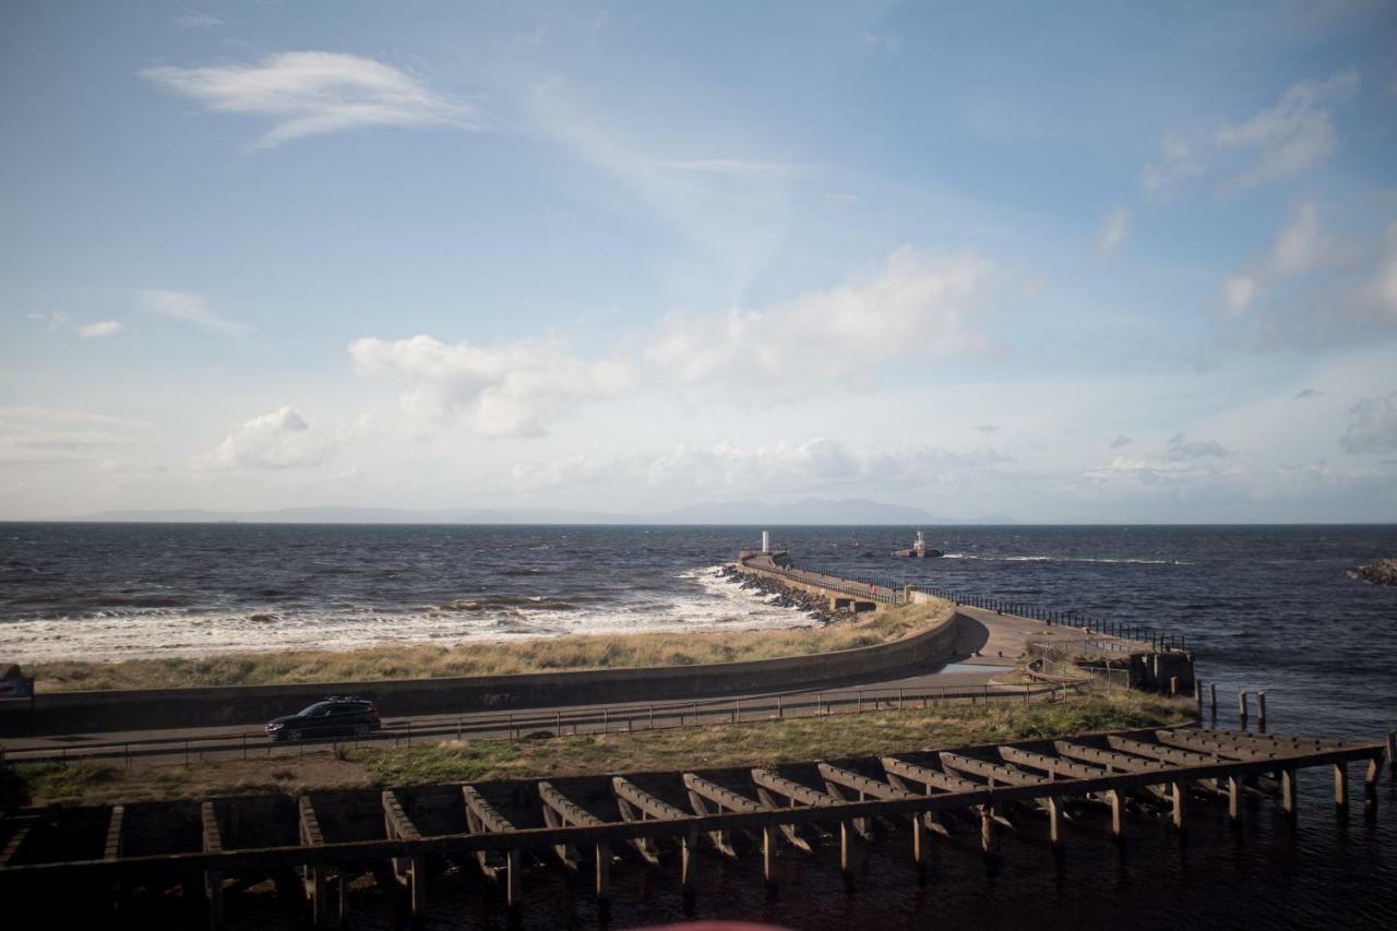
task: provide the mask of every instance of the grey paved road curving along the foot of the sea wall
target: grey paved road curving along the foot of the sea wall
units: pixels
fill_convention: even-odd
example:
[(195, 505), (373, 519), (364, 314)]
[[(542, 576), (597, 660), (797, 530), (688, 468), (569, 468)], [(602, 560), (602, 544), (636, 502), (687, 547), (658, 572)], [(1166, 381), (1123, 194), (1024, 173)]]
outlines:
[[(782, 717), (814, 714), (828, 709), (830, 705), (848, 707), (851, 703), (862, 706), (863, 702), (893, 702), (900, 691), (904, 695), (921, 693), (923, 696), (933, 691), (964, 693), (985, 689), (997, 674), (1013, 667), (1014, 658), (1024, 651), (1030, 637), (1041, 642), (1081, 639), (1083, 636), (1083, 632), (1074, 628), (1048, 626), (1030, 618), (963, 607), (957, 621), (956, 656), (950, 667), (907, 668), (893, 674), (884, 672), (799, 689), (753, 691), (698, 700), (629, 702), (605, 706), (557, 705), (514, 709), (510, 713), (471, 712), (411, 719), (393, 716), (393, 709), (384, 707), (380, 709), (386, 713), (383, 735), (401, 741), (414, 734), (418, 737), (430, 734), (440, 739), (441, 735), (453, 732), (504, 737), (531, 730), (562, 732), (626, 730), (627, 726), (622, 721), (627, 717), (631, 719), (630, 727), (643, 728), (651, 719), (655, 720), (655, 726), (665, 727), (676, 723), (693, 723), (694, 716), (698, 717), (700, 723), (718, 723), (735, 720), (739, 716), (740, 720), (754, 720), (777, 714)], [(288, 707), (286, 713), (291, 714), (296, 710)], [(636, 719), (640, 719), (640, 724), (636, 723)], [(569, 730), (570, 727), (571, 730)], [(84, 751), (91, 752), (102, 745), (110, 748), (112, 745), (144, 744), (183, 748), (187, 741), (210, 738), (224, 738), (224, 745), (233, 748), (229, 752), (242, 749), (243, 741), (251, 749), (265, 749), (261, 728), (246, 724), (11, 738), (4, 741), (4, 749), (13, 759), (21, 759), (34, 752), (81, 755)], [(237, 745), (235, 746), (235, 744)], [(193, 746), (197, 751), (198, 744), (196, 742)]]

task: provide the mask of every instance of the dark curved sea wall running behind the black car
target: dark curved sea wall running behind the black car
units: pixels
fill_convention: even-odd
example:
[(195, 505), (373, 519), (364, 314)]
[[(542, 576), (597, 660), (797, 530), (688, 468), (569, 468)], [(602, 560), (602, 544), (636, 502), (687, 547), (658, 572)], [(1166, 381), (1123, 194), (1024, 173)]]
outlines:
[(775, 660), (439, 679), (39, 693), (0, 702), (0, 735), (261, 724), (327, 695), (362, 695), (391, 717), (714, 698), (944, 663), (954, 644), (956, 612), (947, 605), (944, 616), (930, 628), (891, 643)]

